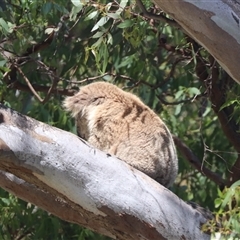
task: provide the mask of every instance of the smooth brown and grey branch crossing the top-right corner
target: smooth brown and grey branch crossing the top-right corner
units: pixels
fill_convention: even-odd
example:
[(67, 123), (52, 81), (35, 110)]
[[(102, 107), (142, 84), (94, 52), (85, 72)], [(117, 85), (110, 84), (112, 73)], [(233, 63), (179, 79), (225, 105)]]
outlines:
[(240, 83), (240, 2), (235, 0), (154, 0), (204, 46)]

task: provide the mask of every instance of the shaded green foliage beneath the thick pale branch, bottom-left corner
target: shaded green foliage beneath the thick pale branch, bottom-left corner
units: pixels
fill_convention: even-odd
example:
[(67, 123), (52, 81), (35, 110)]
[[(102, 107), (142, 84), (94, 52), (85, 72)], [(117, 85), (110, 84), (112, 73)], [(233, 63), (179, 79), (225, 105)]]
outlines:
[(59, 220), (2, 190), (0, 194), (0, 239), (107, 239)]

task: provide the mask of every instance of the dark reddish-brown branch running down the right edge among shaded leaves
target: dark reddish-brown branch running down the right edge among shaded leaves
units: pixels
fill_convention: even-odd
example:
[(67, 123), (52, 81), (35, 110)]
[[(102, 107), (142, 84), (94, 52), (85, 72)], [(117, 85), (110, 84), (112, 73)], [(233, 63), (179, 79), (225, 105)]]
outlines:
[[(194, 50), (198, 51), (198, 47), (194, 46)], [(206, 92), (209, 96), (209, 99), (212, 103), (212, 109), (218, 117), (218, 120), (221, 124), (222, 131), (224, 135), (227, 137), (229, 142), (233, 145), (235, 150), (237, 151), (238, 155), (240, 154), (240, 134), (239, 124), (231, 117), (232, 109), (230, 107), (225, 107), (221, 109), (221, 106), (226, 101), (226, 91), (229, 89), (229, 86), (233, 84), (233, 80), (230, 79), (222, 79), (220, 84), (219, 80), (219, 68), (216, 64), (216, 60), (210, 56), (209, 62), (211, 64), (211, 75), (208, 75), (208, 70), (206, 67), (206, 63), (201, 61), (200, 58), (197, 59), (196, 65), (196, 74), (199, 79), (205, 84)], [(237, 158), (236, 162), (234, 163), (228, 180), (228, 186), (230, 186), (234, 181), (240, 179), (240, 157)]]

